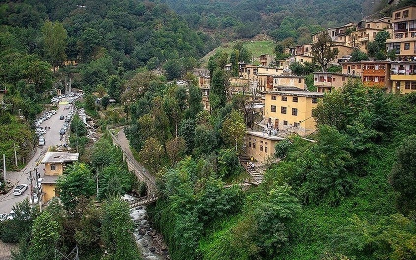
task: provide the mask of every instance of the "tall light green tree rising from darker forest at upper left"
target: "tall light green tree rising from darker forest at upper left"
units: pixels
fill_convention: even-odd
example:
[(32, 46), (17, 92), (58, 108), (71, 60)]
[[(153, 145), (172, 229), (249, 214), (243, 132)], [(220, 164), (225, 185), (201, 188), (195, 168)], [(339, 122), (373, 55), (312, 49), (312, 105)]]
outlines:
[(63, 24), (60, 22), (45, 21), (41, 28), (42, 39), (44, 44), (45, 57), (51, 61), (54, 74), (55, 65), (66, 59), (65, 48), (66, 38), (68, 37)]

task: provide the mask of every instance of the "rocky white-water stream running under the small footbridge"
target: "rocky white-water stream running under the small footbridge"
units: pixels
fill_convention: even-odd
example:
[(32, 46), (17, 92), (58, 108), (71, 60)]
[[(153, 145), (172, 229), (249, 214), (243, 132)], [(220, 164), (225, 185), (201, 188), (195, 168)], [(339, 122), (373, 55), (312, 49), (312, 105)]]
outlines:
[[(132, 195), (124, 195), (123, 199), (136, 199)], [(134, 238), (144, 260), (170, 260), (168, 247), (162, 235), (154, 229), (153, 223), (146, 213), (146, 206), (130, 209), (130, 216), (134, 222)]]

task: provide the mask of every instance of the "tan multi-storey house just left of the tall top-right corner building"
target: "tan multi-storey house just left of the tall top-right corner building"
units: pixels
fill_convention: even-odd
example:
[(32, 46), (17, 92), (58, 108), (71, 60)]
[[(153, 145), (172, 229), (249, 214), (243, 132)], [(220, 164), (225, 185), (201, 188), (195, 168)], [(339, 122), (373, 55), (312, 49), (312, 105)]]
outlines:
[(382, 31), (387, 31), (390, 35), (393, 33), (391, 26), (392, 19), (391, 17), (383, 17), (378, 20), (363, 20), (359, 22), (356, 30), (348, 35), (346, 45), (367, 52), (368, 42), (374, 41), (377, 33)]

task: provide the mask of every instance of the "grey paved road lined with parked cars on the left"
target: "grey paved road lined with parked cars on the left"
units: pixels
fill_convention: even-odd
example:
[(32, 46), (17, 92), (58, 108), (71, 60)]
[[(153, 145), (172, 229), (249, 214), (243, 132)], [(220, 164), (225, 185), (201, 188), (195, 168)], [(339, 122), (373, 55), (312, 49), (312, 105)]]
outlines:
[[(67, 101), (67, 98), (62, 99), (62, 101), (63, 102)], [(28, 180), (30, 176), (29, 171), (34, 170), (35, 168), (38, 168), (38, 172), (41, 174), (41, 177), (42, 177), (44, 175), (43, 170), (45, 167), (42, 164), (39, 164), (38, 166), (36, 166), (36, 163), (40, 162), (40, 160), (45, 155), (49, 146), (53, 146), (57, 144), (64, 144), (64, 141), (59, 140), (59, 137), (60, 137), (59, 130), (61, 129), (64, 123), (64, 120), (60, 120), (59, 116), (64, 115), (66, 117), (66, 115), (68, 115), (69, 110), (66, 110), (65, 106), (67, 105), (59, 105), (59, 109), (57, 113), (53, 115), (50, 119), (42, 122), (41, 124), (42, 127), (51, 127), (51, 130), (46, 131), (46, 134), (43, 135), (45, 137), (46, 144), (44, 146), (38, 146), (36, 148), (36, 153), (33, 156), (33, 158), (30, 160), (28, 165), (26, 165), (26, 167), (20, 172), (7, 172), (7, 179), (9, 179), (12, 183), (14, 183), (15, 186), (17, 184), (26, 183), (30, 187), (30, 180)], [(68, 131), (69, 131), (69, 128), (67, 132)], [(8, 194), (1, 195), (0, 196), (0, 213), (9, 213), (14, 204), (22, 201), (26, 197), (29, 198), (29, 196), (30, 196), (30, 189), (27, 189), (25, 193), (20, 196), (14, 196), (13, 190), (11, 190)]]

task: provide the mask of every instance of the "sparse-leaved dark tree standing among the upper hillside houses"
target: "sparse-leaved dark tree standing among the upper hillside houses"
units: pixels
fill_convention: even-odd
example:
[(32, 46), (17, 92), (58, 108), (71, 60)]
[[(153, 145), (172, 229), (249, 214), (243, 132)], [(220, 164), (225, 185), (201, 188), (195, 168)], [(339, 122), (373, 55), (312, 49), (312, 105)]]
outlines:
[(338, 49), (334, 47), (334, 42), (329, 34), (322, 33), (318, 37), (318, 41), (312, 45), (312, 55), (313, 61), (319, 63), (322, 71), (326, 72), (328, 63), (338, 55)]

